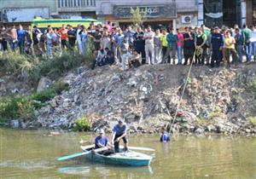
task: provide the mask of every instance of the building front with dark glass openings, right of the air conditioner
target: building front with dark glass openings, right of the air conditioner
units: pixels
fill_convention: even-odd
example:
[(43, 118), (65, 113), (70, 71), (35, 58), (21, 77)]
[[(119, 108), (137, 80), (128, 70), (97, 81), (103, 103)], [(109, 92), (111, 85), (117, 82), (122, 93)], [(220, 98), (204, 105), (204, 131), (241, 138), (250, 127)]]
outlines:
[(256, 0), (198, 0), (198, 25), (239, 26), (256, 22)]

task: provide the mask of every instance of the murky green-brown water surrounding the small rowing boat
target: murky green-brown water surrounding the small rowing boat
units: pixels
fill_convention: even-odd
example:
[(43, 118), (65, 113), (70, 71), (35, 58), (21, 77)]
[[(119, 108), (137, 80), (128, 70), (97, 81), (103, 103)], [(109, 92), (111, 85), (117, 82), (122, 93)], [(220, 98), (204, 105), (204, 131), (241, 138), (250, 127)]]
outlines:
[(80, 152), (79, 141), (91, 135), (0, 129), (0, 178), (256, 178), (256, 137), (130, 136), (132, 146), (154, 147), (150, 167), (96, 165), (83, 158), (55, 159)]

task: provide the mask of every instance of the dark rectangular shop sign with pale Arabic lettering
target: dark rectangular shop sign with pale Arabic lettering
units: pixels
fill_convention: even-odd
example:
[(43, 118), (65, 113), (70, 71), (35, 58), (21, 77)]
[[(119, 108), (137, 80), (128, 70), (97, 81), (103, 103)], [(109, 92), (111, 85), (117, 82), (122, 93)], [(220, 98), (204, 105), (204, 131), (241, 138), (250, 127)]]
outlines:
[[(138, 8), (140, 13), (145, 14), (147, 18), (177, 17), (175, 3), (171, 5), (138, 6)], [(131, 18), (131, 9), (137, 9), (137, 6), (114, 6), (113, 14), (117, 18)]]

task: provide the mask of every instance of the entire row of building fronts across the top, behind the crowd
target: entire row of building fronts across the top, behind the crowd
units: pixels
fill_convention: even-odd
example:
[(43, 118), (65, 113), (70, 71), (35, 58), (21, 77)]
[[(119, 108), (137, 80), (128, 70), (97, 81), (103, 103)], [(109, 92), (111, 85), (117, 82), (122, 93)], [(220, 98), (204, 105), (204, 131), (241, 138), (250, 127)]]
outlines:
[(146, 12), (144, 25), (234, 26), (256, 24), (256, 0), (0, 0), (1, 23), (42, 18), (96, 18), (131, 24), (131, 8)]

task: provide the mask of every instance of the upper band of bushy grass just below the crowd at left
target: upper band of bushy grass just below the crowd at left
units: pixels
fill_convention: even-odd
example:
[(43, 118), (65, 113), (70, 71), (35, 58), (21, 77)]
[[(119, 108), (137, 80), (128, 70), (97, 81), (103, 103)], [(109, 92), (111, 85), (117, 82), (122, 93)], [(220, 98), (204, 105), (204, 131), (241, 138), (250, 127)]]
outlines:
[[(0, 53), (0, 71), (21, 75), (32, 82), (38, 82), (41, 77), (58, 78), (65, 72), (73, 70), (82, 64), (90, 66), (93, 57), (93, 44), (89, 41), (86, 55), (79, 55), (78, 49), (74, 53), (58, 49), (53, 53), (52, 58), (46, 54), (43, 56), (20, 55), (19, 50)], [(61, 52), (61, 53), (60, 53)]]

